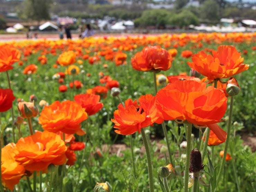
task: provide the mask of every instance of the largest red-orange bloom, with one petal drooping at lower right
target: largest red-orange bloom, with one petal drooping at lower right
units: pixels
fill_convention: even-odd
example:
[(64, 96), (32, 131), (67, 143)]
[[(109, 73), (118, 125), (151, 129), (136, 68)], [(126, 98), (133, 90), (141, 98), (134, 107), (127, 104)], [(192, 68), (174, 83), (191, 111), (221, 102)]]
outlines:
[(164, 120), (208, 126), (220, 140), (225, 140), (226, 132), (216, 123), (225, 115), (227, 97), (221, 90), (206, 85), (192, 80), (168, 84), (156, 94), (157, 108)]

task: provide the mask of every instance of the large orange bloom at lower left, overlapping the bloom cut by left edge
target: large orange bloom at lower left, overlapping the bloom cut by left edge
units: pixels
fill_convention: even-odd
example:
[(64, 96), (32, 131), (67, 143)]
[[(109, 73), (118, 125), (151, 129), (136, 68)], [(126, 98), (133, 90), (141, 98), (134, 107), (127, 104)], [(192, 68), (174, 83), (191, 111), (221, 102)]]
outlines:
[(66, 163), (67, 147), (55, 133), (37, 131), (35, 134), (20, 138), (14, 149), (16, 161), (28, 171), (46, 171), (50, 164)]

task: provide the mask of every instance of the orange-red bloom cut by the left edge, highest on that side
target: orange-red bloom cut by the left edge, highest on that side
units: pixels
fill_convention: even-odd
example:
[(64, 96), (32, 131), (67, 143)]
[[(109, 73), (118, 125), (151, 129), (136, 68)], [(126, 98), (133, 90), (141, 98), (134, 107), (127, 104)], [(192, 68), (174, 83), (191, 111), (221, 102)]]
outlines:
[(19, 61), (20, 51), (8, 44), (0, 46), (0, 72), (13, 69), (12, 64)]

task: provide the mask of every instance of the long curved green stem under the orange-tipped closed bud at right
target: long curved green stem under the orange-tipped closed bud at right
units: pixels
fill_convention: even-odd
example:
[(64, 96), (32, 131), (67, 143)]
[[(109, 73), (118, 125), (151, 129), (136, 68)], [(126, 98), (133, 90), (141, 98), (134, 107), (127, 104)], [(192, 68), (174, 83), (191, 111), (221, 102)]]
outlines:
[(217, 180), (216, 180), (216, 186), (218, 186), (218, 183), (220, 181), (220, 177), (222, 175), (222, 171), (225, 165), (225, 159), (226, 159), (226, 155), (227, 155), (227, 151), (228, 151), (228, 144), (229, 144), (229, 138), (230, 138), (230, 130), (231, 130), (231, 122), (232, 122), (232, 113), (233, 113), (233, 105), (234, 105), (234, 96), (230, 97), (230, 105), (229, 105), (229, 116), (228, 116), (228, 127), (227, 127), (227, 139), (225, 142), (225, 149), (224, 149), (224, 154), (221, 160), (221, 164), (220, 164), (220, 170), (217, 176)]

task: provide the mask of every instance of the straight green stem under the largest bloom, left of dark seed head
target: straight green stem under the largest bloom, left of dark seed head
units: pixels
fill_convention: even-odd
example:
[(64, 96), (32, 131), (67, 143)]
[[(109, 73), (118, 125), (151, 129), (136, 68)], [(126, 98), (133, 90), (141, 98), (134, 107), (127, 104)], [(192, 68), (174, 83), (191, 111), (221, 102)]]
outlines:
[(189, 161), (191, 152), (191, 134), (192, 134), (192, 124), (188, 124), (188, 134), (187, 134), (187, 149), (186, 149), (186, 164), (184, 173), (184, 192), (189, 191)]

